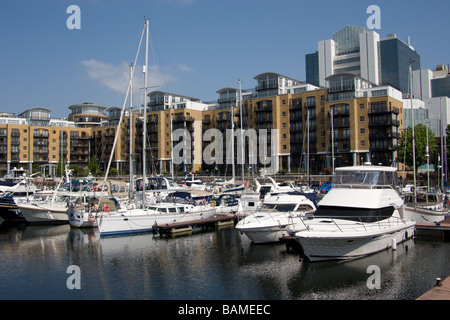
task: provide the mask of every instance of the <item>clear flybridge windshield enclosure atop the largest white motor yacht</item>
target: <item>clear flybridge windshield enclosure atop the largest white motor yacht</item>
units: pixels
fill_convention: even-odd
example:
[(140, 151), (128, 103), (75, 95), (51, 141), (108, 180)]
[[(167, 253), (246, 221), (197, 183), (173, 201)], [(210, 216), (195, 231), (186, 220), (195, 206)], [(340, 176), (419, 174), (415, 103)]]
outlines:
[(366, 187), (395, 188), (397, 185), (395, 172), (342, 170), (336, 171), (333, 177), (333, 187)]

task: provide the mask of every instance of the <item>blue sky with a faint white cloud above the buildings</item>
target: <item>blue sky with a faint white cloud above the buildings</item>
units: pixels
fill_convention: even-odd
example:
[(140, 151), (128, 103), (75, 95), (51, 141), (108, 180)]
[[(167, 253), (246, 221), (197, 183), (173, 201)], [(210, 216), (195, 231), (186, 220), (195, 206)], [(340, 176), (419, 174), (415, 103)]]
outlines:
[[(81, 9), (80, 30), (66, 26), (69, 5)], [(422, 69), (450, 63), (447, 0), (1, 0), (0, 112), (45, 107), (59, 118), (72, 104), (122, 106), (144, 17), (152, 90), (212, 101), (264, 72), (304, 80), (305, 54), (346, 25), (365, 27), (369, 5), (381, 9), (381, 37), (411, 37)]]

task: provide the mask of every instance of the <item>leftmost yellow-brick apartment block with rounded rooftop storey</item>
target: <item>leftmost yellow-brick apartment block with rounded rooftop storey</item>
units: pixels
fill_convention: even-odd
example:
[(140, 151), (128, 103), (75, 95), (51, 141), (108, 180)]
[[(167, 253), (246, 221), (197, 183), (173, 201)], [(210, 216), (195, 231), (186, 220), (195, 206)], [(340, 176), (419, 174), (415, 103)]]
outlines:
[[(91, 129), (78, 128), (66, 120), (50, 119), (50, 110), (32, 108), (17, 118), (13, 114), (0, 119), (0, 173), (14, 167), (46, 171), (55, 176), (60, 159), (65, 163), (87, 166)], [(35, 166), (35, 168), (33, 168)]]

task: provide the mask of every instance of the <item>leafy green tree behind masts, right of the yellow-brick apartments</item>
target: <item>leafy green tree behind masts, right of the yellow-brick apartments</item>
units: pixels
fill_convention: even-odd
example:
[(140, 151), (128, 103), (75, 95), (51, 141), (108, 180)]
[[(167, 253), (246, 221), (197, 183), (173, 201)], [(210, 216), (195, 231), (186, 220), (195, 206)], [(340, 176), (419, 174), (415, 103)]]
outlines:
[[(414, 127), (414, 141), (415, 141), (415, 161), (416, 168), (422, 164), (427, 163), (427, 127), (423, 124), (418, 124)], [(413, 153), (413, 139), (412, 139), (412, 128), (408, 127), (406, 131), (400, 136), (399, 148), (398, 148), (398, 160), (408, 167), (413, 167), (414, 165), (414, 153)], [(406, 143), (406, 148), (405, 148)], [(433, 131), (428, 129), (428, 146), (430, 155), (430, 164), (432, 159), (436, 158), (436, 137)]]

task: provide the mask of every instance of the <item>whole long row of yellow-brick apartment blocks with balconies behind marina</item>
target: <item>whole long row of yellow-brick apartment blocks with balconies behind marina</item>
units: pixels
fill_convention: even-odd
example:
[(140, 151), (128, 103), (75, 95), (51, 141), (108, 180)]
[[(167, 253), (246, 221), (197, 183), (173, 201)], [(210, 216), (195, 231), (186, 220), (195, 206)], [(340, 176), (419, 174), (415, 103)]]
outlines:
[[(120, 125), (120, 108), (92, 103), (70, 106), (69, 120), (52, 120), (44, 108), (17, 118), (3, 115), (0, 174), (13, 167), (32, 171), (38, 166), (54, 175), (61, 157), (87, 167), (93, 156), (105, 171), (111, 154), (111, 167), (120, 174), (129, 173), (130, 159), (133, 173), (141, 174), (144, 150), (149, 174), (200, 169), (231, 174), (233, 161), (236, 174), (242, 167), (246, 172), (319, 174), (330, 173), (333, 164), (397, 165), (397, 139), (403, 128), (400, 91), (354, 74), (332, 75), (326, 88), (273, 72), (254, 79), (253, 89), (218, 90), (213, 103), (153, 91), (145, 112), (126, 110)], [(214, 132), (222, 140), (219, 147), (211, 148), (216, 137), (208, 136), (208, 129), (218, 129)]]

